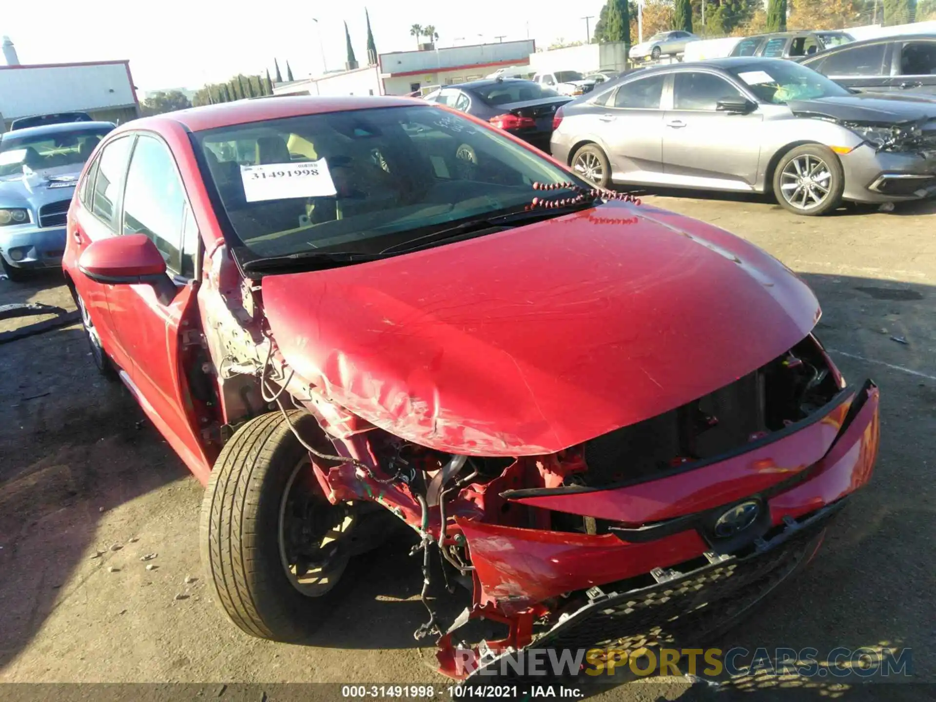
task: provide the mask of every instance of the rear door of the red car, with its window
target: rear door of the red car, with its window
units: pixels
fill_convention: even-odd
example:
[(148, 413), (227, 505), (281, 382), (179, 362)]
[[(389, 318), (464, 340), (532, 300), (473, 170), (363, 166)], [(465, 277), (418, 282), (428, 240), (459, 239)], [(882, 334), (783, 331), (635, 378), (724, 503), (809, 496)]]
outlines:
[[(78, 206), (73, 210), (68, 227), (68, 235), (72, 238), (69, 245), (74, 246), (76, 260), (92, 241), (116, 235), (116, 218), (132, 145), (131, 136), (110, 139), (85, 171), (84, 180), (79, 185)], [(129, 370), (131, 361), (110, 323), (108, 293), (113, 285), (96, 283), (80, 273), (73, 277), (72, 283), (91, 315), (104, 350), (120, 368)]]

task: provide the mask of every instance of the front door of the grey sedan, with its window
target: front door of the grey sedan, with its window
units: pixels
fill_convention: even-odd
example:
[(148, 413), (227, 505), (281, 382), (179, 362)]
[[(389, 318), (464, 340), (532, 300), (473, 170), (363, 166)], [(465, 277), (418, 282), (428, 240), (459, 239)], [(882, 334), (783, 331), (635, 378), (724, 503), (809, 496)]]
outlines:
[(717, 110), (719, 100), (748, 99), (715, 73), (680, 71), (673, 107), (663, 118), (663, 170), (668, 183), (750, 190), (757, 179), (764, 116)]

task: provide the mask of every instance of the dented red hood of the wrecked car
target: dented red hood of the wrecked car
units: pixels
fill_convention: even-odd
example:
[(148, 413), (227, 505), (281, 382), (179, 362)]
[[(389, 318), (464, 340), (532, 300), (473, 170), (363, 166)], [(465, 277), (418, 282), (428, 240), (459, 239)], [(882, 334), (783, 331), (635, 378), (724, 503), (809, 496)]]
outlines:
[(267, 276), (297, 373), (457, 453), (551, 453), (721, 388), (800, 341), (810, 289), (672, 212), (612, 203), (327, 271)]

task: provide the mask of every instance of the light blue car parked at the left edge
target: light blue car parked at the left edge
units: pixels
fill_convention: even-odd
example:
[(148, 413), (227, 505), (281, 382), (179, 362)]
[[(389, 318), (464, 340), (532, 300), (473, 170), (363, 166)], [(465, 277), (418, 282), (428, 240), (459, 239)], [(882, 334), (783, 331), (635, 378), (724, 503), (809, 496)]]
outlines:
[(84, 162), (110, 122), (23, 127), (0, 135), (0, 265), (7, 278), (57, 268), (66, 213)]

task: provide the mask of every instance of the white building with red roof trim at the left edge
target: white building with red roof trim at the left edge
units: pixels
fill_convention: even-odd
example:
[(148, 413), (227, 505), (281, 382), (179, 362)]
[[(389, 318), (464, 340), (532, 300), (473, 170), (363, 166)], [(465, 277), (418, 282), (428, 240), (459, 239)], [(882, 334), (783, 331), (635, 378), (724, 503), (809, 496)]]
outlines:
[(114, 123), (139, 117), (129, 62), (0, 66), (0, 132), (19, 117), (73, 111)]

